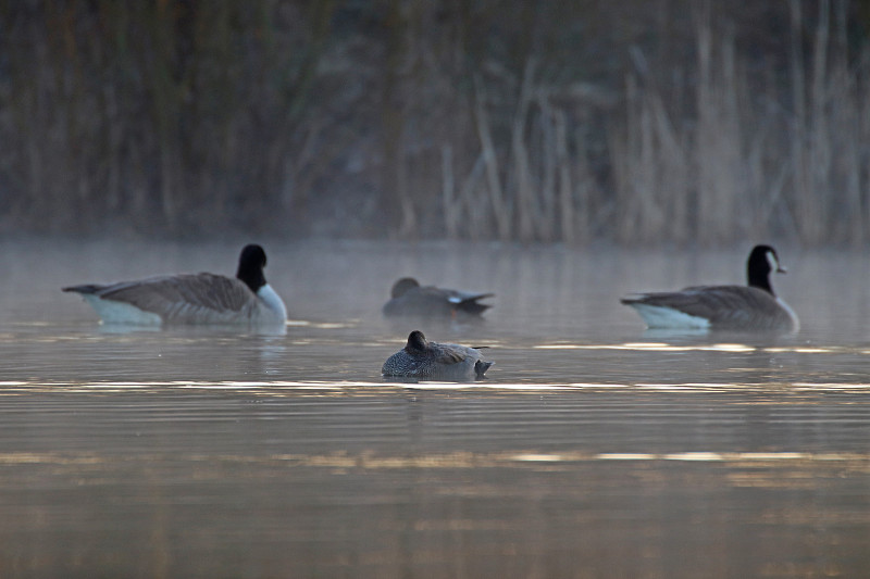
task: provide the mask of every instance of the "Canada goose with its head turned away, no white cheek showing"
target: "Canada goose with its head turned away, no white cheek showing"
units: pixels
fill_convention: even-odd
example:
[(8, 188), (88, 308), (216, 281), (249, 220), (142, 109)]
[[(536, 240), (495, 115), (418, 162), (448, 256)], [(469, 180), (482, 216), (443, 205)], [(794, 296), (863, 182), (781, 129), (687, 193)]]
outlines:
[(263, 275), (265, 252), (246, 246), (236, 278), (214, 274), (160, 276), (108, 286), (63, 288), (80, 293), (107, 324), (215, 324), (284, 327), (287, 309)]

